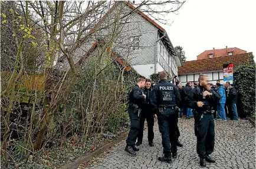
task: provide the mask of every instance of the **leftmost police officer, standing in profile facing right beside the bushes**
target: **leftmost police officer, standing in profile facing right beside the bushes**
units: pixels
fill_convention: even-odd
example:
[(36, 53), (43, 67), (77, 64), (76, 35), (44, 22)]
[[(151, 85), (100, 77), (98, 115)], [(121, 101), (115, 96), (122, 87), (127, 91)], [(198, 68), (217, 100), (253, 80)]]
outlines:
[(126, 140), (127, 145), (124, 150), (133, 155), (136, 155), (136, 151), (139, 151), (139, 148), (135, 146), (135, 142), (140, 129), (140, 111), (146, 99), (146, 95), (142, 91), (142, 88), (145, 87), (145, 81), (145, 78), (138, 78), (137, 84), (129, 94), (128, 112), (131, 124)]

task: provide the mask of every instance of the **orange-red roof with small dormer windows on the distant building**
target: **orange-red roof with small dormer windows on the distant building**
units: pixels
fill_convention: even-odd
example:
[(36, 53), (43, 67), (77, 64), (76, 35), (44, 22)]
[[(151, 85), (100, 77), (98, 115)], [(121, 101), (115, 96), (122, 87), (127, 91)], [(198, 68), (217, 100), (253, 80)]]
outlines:
[(197, 60), (199, 59), (207, 59), (207, 58), (216, 58), (216, 57), (223, 57), (223, 56), (232, 56), (232, 55), (238, 55), (238, 54), (245, 54), (247, 51), (244, 51), (239, 48), (226, 48), (224, 49), (212, 49), (202, 52), (202, 54), (198, 55), (196, 57)]

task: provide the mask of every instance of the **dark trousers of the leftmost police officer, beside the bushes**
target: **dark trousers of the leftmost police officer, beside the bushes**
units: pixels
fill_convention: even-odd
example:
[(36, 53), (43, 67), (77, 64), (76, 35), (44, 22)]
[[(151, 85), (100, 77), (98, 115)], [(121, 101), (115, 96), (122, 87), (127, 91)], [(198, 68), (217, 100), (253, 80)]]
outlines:
[(130, 117), (130, 131), (126, 139), (127, 146), (133, 146), (136, 143), (140, 130), (140, 117), (138, 113), (134, 113), (132, 109), (128, 110)]

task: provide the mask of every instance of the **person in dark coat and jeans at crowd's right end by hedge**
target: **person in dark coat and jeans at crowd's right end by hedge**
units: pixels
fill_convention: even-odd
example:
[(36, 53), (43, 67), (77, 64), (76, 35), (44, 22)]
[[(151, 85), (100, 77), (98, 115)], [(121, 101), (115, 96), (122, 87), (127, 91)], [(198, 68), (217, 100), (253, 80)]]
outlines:
[(230, 84), (228, 88), (228, 114), (230, 114), (231, 120), (238, 120), (237, 90), (234, 88), (234, 84)]

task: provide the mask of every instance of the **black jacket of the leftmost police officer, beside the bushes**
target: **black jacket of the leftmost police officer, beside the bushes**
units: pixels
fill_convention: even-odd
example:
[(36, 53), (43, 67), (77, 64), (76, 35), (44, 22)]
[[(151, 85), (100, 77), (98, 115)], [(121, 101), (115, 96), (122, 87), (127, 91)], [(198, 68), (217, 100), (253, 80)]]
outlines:
[(129, 104), (136, 104), (142, 108), (144, 103), (145, 97), (143, 96), (143, 90), (136, 84), (129, 94)]

